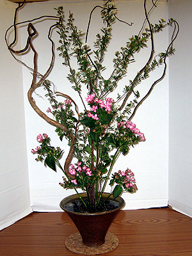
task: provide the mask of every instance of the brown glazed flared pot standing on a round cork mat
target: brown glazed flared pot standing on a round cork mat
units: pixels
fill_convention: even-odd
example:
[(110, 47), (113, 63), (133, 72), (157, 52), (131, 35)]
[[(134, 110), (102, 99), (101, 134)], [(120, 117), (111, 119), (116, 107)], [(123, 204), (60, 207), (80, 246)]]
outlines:
[[(108, 195), (108, 193), (103, 193), (102, 198), (106, 198)], [(81, 193), (81, 196), (86, 198), (86, 193)], [(68, 202), (77, 200), (78, 198), (78, 195), (67, 196), (61, 200), (61, 209), (67, 212), (68, 216), (70, 216), (72, 221), (74, 221), (74, 224), (81, 234), (83, 243), (86, 246), (100, 246), (101, 244), (104, 244), (108, 228), (110, 227), (112, 221), (115, 219), (120, 209), (125, 205), (124, 199), (118, 196), (114, 200), (113, 196), (110, 196), (110, 200), (113, 202), (116, 201), (119, 204), (116, 209), (110, 211), (84, 213), (69, 211), (66, 209), (65, 205)]]

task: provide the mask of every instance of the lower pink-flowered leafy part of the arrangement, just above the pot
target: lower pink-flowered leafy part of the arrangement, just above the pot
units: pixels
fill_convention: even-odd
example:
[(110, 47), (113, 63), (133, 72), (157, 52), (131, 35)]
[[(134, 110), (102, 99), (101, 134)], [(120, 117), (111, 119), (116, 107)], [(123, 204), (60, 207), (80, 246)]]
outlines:
[[(71, 145), (74, 147), (74, 157), (78, 160), (75, 165), (70, 164), (68, 170), (62, 168), (59, 160), (63, 151), (50, 145), (51, 140), (47, 134), (37, 136), (36, 140), (41, 144), (35, 150), (32, 149), (32, 153), (38, 154), (36, 160), (44, 161), (45, 165), (52, 170), (56, 171), (55, 165), (61, 168), (65, 176), (60, 185), (63, 188), (74, 188), (77, 193), (77, 188), (86, 191), (89, 199), (88, 205), (78, 193), (84, 206), (88, 207), (89, 211), (98, 211), (104, 203), (101, 204), (100, 199), (117, 157), (120, 153), (127, 154), (131, 146), (145, 141), (145, 136), (135, 124), (127, 120), (125, 115), (118, 113), (119, 106), (113, 99), (102, 100), (93, 93), (88, 95), (86, 102), (90, 110), (81, 114), (78, 127), (83, 125), (83, 129), (78, 130), (74, 142), (70, 134), (75, 133), (77, 126), (74, 124), (78, 121), (74, 119), (71, 109), (72, 100), (65, 100), (63, 103), (54, 102), (52, 111), (50, 108), (47, 109), (58, 120), (68, 125), (68, 135), (60, 129), (57, 129), (57, 132), (61, 138), (63, 134), (68, 136), (70, 147)], [(120, 195), (122, 191), (134, 192), (137, 189), (134, 174), (128, 168), (125, 171), (119, 170), (118, 173), (113, 173), (109, 184), (111, 186), (116, 184), (109, 193), (109, 196), (113, 194), (113, 198)]]

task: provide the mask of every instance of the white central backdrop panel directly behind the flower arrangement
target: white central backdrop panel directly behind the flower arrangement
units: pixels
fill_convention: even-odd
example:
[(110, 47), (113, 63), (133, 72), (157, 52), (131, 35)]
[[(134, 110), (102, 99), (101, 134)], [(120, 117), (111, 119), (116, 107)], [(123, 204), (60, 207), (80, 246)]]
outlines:
[[(49, 1), (44, 3), (29, 3), (20, 11), (21, 20), (29, 20), (42, 15), (56, 15), (56, 10), (60, 5), (64, 6), (66, 15), (68, 10), (74, 13), (76, 25), (79, 29), (86, 31), (88, 16), (95, 5), (102, 5), (102, 1)], [(128, 38), (140, 31), (144, 20), (143, 1), (115, 1), (118, 8), (119, 19), (127, 22), (134, 22), (134, 25), (129, 27), (123, 23), (116, 22), (112, 31), (113, 38), (110, 43), (108, 52), (106, 54), (106, 77), (110, 74), (112, 67), (111, 60), (113, 60), (115, 51), (118, 51), (121, 46), (125, 45)], [(95, 34), (99, 32), (102, 22), (97, 18), (100, 10), (97, 10), (92, 19), (92, 26), (88, 38), (88, 44), (92, 45), (95, 40)], [(159, 1), (158, 8), (155, 9), (150, 19), (152, 22), (158, 22), (159, 19), (168, 19), (168, 7), (164, 1)], [(67, 18), (66, 18), (67, 19)], [(38, 36), (34, 43), (38, 51), (38, 72), (44, 73), (51, 60), (51, 45), (47, 40), (47, 31), (49, 26), (54, 21), (36, 22), (35, 28), (38, 31)], [(26, 28), (25, 28), (26, 29)], [(161, 37), (160, 37), (161, 36)], [(58, 35), (54, 30), (52, 38), (58, 46)], [(26, 32), (24, 28), (21, 29), (22, 47), (26, 42)], [(164, 51), (168, 44), (168, 30), (155, 36), (156, 54), (159, 51)], [(129, 67), (127, 79), (120, 82), (120, 88), (124, 84), (129, 83), (143, 63), (148, 58), (149, 49), (143, 49), (140, 54), (135, 56), (136, 63)], [(56, 52), (56, 60), (51, 75), (48, 77), (56, 86), (56, 90), (67, 93), (73, 99), (77, 99), (75, 92), (70, 89), (70, 83), (67, 81), (68, 70), (61, 65), (61, 58)], [(172, 57), (174, 58), (174, 57)], [(28, 52), (22, 57), (22, 61), (32, 66), (33, 54)], [(23, 83), (24, 83), (24, 107), (26, 116), (26, 137), (28, 150), (28, 166), (29, 166), (29, 185), (31, 191), (31, 204), (35, 211), (60, 211), (60, 200), (74, 191), (64, 190), (59, 186), (62, 181), (63, 174), (60, 170), (57, 173), (49, 168), (45, 168), (44, 164), (35, 161), (35, 155), (31, 154), (31, 148), (35, 148), (38, 143), (36, 135), (39, 133), (47, 133), (51, 136), (52, 145), (58, 146), (65, 150), (64, 159), (68, 153), (67, 143), (59, 140), (54, 127), (51, 127), (44, 120), (42, 120), (29, 106), (27, 99), (27, 92), (31, 84), (31, 74), (29, 70), (23, 67)], [(152, 81), (161, 76), (162, 69), (159, 68), (156, 72), (152, 72), (151, 79), (147, 79), (145, 83), (140, 86), (141, 95), (147, 92), (152, 84)], [(138, 88), (139, 89), (139, 88)], [(40, 109), (45, 111), (48, 108), (43, 90), (37, 90), (33, 97), (36, 100)], [(85, 95), (85, 94), (84, 94)], [(77, 101), (77, 100), (76, 100)], [(148, 99), (138, 109), (133, 120), (137, 127), (145, 134), (146, 141), (140, 143), (135, 148), (131, 148), (127, 156), (119, 157), (116, 161), (114, 170), (125, 170), (129, 167), (135, 173), (138, 191), (133, 195), (129, 193), (123, 194), (126, 206), (125, 209), (140, 209), (148, 207), (159, 207), (168, 204), (168, 71), (166, 78), (157, 84), (156, 88), (148, 97)], [(110, 189), (109, 187), (107, 188)]]

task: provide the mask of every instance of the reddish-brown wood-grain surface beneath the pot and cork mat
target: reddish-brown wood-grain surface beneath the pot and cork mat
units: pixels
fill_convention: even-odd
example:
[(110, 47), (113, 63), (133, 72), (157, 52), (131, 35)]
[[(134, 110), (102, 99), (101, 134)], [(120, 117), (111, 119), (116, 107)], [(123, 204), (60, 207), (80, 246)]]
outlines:
[[(65, 248), (76, 232), (65, 212), (33, 212), (1, 230), (0, 255), (79, 255)], [(192, 256), (192, 218), (170, 208), (120, 211), (109, 232), (119, 244), (106, 256)]]

